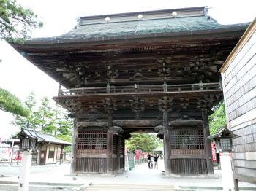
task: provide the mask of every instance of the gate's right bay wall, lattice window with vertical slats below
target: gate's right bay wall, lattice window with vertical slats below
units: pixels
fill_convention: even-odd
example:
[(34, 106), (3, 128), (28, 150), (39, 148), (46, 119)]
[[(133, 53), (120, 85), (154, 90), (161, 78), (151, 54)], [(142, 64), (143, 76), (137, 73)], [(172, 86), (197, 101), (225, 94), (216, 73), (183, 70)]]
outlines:
[(170, 169), (172, 174), (211, 174), (208, 171), (203, 128), (170, 130)]

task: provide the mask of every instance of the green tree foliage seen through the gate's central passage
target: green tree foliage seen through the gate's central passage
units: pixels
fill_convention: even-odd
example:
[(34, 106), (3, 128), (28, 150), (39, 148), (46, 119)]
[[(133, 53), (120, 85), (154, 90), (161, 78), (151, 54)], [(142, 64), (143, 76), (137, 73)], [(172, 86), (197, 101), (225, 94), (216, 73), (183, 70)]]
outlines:
[(125, 142), (130, 151), (140, 149), (144, 152), (153, 152), (153, 149), (162, 147), (162, 141), (157, 136), (149, 133), (134, 133), (132, 137)]

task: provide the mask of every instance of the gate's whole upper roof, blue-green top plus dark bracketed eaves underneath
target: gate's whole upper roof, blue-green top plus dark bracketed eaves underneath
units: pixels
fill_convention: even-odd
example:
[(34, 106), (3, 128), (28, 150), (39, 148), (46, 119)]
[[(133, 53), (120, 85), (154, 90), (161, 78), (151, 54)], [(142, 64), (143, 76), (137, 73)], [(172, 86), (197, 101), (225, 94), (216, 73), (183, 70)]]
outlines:
[(247, 26), (221, 25), (207, 7), (97, 15), (80, 17), (67, 34), (12, 47), (67, 88), (207, 83), (219, 81)]

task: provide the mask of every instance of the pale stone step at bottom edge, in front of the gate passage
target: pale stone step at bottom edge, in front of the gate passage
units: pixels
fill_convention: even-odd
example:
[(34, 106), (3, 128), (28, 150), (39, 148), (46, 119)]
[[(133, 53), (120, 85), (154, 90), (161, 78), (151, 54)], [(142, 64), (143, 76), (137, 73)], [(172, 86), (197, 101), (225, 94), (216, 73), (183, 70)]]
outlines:
[(85, 191), (175, 191), (179, 190), (172, 184), (91, 184)]

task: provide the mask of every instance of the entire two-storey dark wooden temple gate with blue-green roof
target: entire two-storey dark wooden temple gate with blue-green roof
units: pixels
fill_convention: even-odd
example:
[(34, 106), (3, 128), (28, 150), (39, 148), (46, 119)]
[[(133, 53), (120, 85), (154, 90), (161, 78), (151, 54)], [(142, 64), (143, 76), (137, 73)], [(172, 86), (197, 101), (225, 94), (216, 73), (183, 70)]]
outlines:
[(247, 26), (220, 25), (207, 7), (132, 12), (80, 17), (67, 34), (12, 46), (65, 87), (54, 99), (75, 121), (72, 174), (123, 171), (137, 130), (164, 139), (166, 175), (212, 174), (217, 71)]

